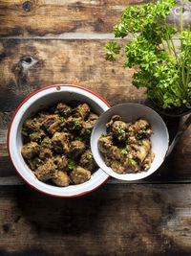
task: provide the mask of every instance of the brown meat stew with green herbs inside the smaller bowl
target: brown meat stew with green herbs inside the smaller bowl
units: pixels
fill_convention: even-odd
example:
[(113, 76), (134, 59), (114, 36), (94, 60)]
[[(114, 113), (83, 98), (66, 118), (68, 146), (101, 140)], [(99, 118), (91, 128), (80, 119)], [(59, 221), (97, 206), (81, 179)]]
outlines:
[(150, 140), (153, 130), (147, 120), (124, 122), (120, 115), (114, 115), (105, 127), (107, 134), (102, 133), (97, 144), (108, 167), (123, 175), (150, 168), (155, 153)]

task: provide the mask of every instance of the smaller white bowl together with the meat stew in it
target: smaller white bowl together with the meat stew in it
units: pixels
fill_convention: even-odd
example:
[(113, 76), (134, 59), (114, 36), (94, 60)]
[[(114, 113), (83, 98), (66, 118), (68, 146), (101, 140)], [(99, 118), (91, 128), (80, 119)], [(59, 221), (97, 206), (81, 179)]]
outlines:
[(134, 103), (115, 105), (102, 113), (91, 135), (97, 165), (121, 180), (152, 175), (163, 162), (169, 135), (159, 114)]

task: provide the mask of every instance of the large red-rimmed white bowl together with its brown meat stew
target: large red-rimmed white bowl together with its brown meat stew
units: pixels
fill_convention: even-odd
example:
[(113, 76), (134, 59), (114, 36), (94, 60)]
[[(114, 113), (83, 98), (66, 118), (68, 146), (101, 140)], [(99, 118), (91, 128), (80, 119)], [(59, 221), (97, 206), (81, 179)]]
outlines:
[(34, 189), (55, 197), (78, 197), (109, 175), (94, 160), (90, 137), (110, 105), (93, 91), (51, 85), (30, 95), (14, 112), (8, 132), (11, 162)]

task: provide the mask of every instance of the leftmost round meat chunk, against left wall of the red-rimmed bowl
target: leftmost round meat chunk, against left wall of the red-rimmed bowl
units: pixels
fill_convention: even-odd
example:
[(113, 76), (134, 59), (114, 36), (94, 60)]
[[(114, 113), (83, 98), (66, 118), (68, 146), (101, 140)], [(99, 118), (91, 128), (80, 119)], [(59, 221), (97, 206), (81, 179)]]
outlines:
[(21, 153), (24, 158), (31, 159), (40, 151), (40, 146), (36, 142), (31, 142), (22, 147)]

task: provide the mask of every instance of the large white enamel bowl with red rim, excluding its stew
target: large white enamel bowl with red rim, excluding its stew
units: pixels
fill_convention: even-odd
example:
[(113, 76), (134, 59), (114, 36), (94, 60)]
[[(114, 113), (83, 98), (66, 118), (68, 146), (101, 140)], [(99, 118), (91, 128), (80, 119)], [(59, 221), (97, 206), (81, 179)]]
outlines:
[(57, 187), (48, 185), (38, 180), (28, 168), (22, 155), (22, 136), (21, 129), (23, 122), (32, 114), (44, 107), (54, 105), (57, 102), (68, 103), (70, 101), (80, 101), (87, 103), (97, 114), (109, 109), (108, 105), (96, 93), (76, 85), (52, 85), (34, 92), (21, 105), (18, 106), (11, 119), (8, 132), (8, 149), (12, 164), (17, 173), (33, 188), (45, 194), (55, 197), (78, 197), (95, 190), (107, 180), (109, 175), (97, 169), (90, 180), (79, 185), (69, 185), (68, 187)]

